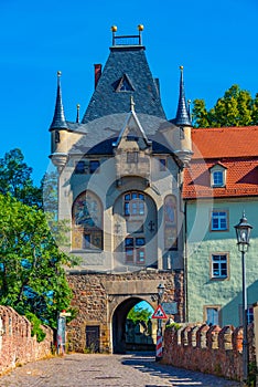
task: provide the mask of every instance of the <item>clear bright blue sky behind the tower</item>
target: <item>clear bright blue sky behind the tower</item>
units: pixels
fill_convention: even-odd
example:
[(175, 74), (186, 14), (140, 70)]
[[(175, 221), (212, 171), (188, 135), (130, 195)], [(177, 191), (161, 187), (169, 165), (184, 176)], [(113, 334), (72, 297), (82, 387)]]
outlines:
[(257, 0), (0, 0), (0, 157), (15, 147), (39, 184), (49, 166), (56, 72), (67, 121), (83, 116), (94, 91), (94, 63), (105, 64), (117, 34), (135, 34), (160, 79), (168, 118), (176, 112), (179, 66), (186, 97), (208, 108), (233, 84), (258, 92)]

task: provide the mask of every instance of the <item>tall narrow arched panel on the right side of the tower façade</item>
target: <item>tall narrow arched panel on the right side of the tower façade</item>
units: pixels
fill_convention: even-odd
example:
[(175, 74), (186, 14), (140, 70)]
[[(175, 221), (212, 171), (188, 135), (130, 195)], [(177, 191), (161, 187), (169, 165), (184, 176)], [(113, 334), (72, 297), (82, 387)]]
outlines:
[(164, 248), (178, 250), (176, 198), (173, 195), (164, 199)]

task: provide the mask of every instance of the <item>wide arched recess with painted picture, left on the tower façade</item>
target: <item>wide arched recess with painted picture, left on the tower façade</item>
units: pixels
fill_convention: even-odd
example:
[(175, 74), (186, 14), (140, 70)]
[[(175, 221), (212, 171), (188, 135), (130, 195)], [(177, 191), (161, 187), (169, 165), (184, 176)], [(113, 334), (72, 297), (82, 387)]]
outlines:
[(73, 250), (103, 249), (103, 205), (89, 191), (80, 194), (74, 201)]

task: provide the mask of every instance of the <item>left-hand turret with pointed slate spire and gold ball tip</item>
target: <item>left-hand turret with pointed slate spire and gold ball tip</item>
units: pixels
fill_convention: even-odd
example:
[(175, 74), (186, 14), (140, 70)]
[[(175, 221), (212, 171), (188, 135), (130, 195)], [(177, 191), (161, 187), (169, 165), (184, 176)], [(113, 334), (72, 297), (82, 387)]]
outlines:
[(64, 107), (62, 102), (61, 90), (61, 71), (57, 72), (57, 92), (55, 102), (55, 112), (52, 124), (50, 126), (51, 132), (51, 160), (57, 167), (58, 171), (65, 166), (67, 155), (67, 130), (68, 125), (65, 119)]

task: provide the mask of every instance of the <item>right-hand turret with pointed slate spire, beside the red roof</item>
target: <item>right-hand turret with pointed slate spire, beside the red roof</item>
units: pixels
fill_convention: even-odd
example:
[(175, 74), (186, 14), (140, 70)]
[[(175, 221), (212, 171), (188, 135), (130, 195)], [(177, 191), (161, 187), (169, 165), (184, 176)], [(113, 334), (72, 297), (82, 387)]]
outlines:
[(179, 145), (179, 149), (175, 149), (174, 153), (179, 157), (183, 166), (186, 166), (190, 163), (193, 155), (192, 138), (191, 138), (192, 121), (191, 121), (190, 109), (185, 101), (183, 66), (180, 66), (180, 71), (181, 71), (181, 76), (180, 76), (179, 105), (178, 105), (176, 117), (173, 121), (173, 124), (175, 124), (179, 127), (179, 132), (176, 136), (178, 137), (176, 144)]

